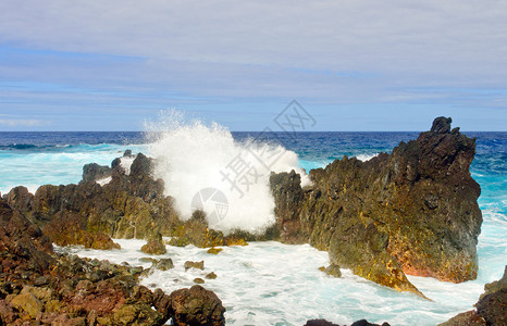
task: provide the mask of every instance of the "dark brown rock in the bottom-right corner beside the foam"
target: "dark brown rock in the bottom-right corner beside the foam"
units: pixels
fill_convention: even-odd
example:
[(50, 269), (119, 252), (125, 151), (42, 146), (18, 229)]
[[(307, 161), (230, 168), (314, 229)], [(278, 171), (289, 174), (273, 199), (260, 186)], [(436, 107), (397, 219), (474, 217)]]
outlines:
[(456, 315), (441, 326), (507, 325), (507, 265), (499, 280), (486, 284), (484, 293), (475, 303), (477, 310)]

